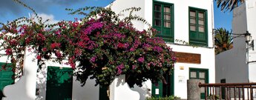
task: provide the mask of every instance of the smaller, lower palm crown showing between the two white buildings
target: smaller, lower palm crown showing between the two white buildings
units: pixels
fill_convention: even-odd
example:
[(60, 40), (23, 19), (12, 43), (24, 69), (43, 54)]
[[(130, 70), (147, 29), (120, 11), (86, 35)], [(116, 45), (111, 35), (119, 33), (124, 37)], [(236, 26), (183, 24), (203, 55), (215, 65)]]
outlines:
[(216, 55), (223, 51), (232, 49), (233, 48), (232, 31), (226, 30), (222, 27), (215, 29), (214, 45), (215, 45)]

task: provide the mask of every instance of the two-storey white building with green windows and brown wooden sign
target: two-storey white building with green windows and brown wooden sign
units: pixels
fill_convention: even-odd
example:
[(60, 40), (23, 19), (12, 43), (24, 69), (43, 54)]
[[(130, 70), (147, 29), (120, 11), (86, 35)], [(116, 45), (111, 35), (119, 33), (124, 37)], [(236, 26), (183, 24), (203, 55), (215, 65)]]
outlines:
[[(168, 82), (171, 84), (154, 87), (154, 84), (147, 82), (147, 86), (152, 86), (149, 87), (151, 91), (148, 96), (174, 95), (186, 99), (187, 79), (215, 82), (212, 0), (116, 0), (112, 10), (119, 12), (129, 7), (142, 8), (135, 14), (142, 16), (154, 28), (160, 30), (158, 36), (165, 39), (179, 58), (174, 66), (173, 76), (168, 76)], [(148, 27), (140, 22), (134, 22), (134, 26), (140, 30)], [(188, 46), (176, 40), (186, 41), (198, 47)]]

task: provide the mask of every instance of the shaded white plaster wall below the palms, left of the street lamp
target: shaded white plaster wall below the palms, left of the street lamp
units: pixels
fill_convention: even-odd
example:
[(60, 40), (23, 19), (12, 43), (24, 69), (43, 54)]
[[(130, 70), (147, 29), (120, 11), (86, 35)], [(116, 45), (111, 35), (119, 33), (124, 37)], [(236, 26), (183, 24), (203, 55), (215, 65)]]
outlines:
[[(233, 11), (233, 33), (246, 33), (246, 4), (241, 4)], [(237, 35), (234, 35), (237, 36)], [(246, 64), (245, 37), (234, 39), (234, 47), (216, 56), (216, 82), (226, 79), (226, 83), (243, 83), (249, 80), (249, 68)]]

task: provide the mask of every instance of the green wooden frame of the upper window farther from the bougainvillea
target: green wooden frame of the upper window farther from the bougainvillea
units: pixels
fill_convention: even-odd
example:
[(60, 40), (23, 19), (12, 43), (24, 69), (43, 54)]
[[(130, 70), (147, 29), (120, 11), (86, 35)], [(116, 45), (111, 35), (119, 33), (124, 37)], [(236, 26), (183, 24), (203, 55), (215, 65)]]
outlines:
[[(190, 16), (190, 11), (194, 10), (196, 11), (196, 16), (195, 16), (195, 27), (196, 30), (193, 31), (191, 30), (191, 16)], [(200, 12), (204, 13), (204, 32), (199, 32), (199, 14)], [(203, 38), (199, 38), (202, 37), (202, 33), (204, 34)], [(200, 36), (201, 35), (201, 36)], [(204, 9), (200, 9), (200, 8), (196, 8), (196, 7), (188, 7), (188, 36), (189, 36), (189, 44), (195, 44), (195, 45), (199, 45), (199, 46), (208, 46), (208, 12), (207, 10)]]

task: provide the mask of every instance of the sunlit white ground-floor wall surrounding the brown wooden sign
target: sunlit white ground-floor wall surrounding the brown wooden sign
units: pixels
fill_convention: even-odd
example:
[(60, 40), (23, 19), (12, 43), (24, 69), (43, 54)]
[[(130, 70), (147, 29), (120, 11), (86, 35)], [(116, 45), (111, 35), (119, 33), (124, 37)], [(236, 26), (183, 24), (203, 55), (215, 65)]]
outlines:
[[(187, 99), (187, 79), (189, 79), (189, 68), (209, 69), (209, 83), (215, 83), (214, 49), (206, 47), (188, 47), (171, 45), (174, 51), (183, 53), (197, 53), (201, 55), (201, 64), (176, 63), (174, 66), (174, 95)], [(184, 70), (180, 70), (184, 67)], [(183, 79), (179, 81), (179, 79)]]

